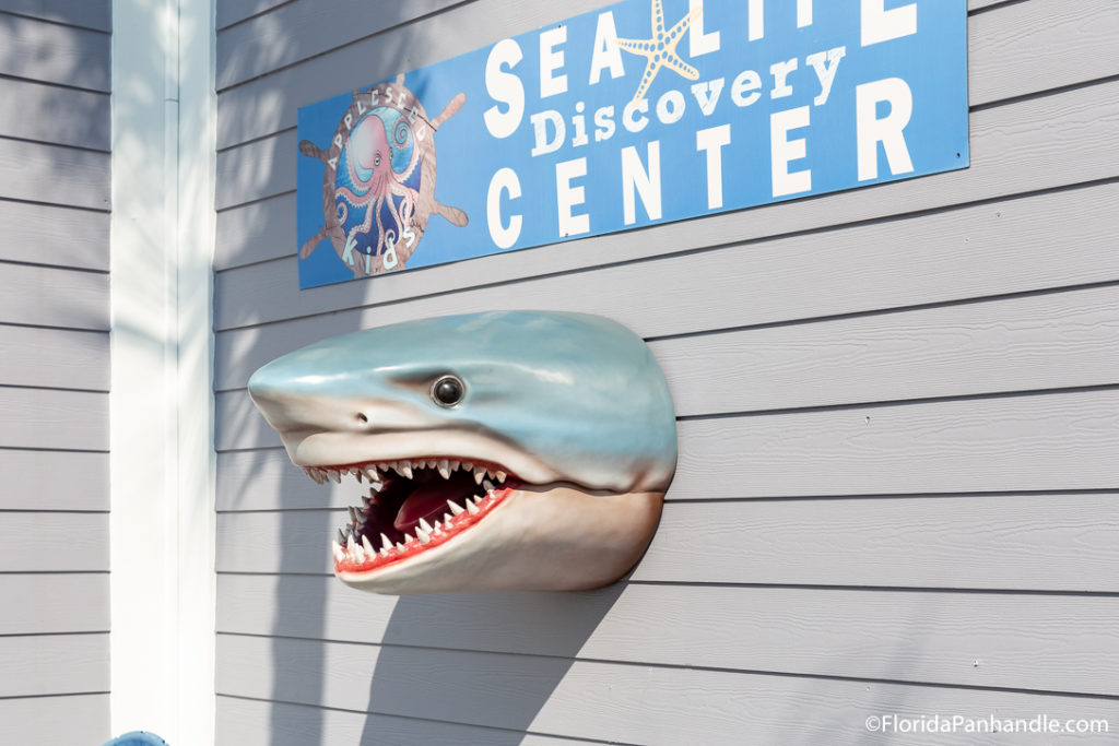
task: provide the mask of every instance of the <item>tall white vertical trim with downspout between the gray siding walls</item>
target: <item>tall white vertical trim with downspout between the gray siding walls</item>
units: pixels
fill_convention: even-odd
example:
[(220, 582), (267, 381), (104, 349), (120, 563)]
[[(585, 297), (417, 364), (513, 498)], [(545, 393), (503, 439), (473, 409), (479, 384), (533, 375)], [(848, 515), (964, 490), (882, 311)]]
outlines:
[(214, 742), (213, 0), (113, 0), (111, 727)]

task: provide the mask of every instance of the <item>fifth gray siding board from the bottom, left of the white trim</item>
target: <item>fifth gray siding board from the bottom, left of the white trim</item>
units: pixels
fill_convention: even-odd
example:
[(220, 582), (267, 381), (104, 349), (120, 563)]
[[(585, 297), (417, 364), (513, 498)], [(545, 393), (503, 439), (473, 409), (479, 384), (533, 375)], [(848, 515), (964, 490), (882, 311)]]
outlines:
[(109, 510), (107, 453), (0, 448), (0, 510)]

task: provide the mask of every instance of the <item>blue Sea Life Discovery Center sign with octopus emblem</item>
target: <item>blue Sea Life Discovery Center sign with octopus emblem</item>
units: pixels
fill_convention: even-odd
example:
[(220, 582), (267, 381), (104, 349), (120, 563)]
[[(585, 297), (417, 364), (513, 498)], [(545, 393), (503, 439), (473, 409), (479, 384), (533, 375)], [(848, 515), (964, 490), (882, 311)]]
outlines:
[(624, 0), (299, 139), (301, 287), (966, 168), (966, 0)]

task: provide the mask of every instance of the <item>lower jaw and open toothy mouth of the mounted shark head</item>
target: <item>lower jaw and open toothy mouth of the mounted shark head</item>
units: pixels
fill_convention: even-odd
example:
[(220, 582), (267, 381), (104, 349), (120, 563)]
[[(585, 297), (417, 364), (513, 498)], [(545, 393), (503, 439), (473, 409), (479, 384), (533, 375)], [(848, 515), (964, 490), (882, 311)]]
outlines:
[(368, 482), (332, 542), (335, 575), (395, 595), (606, 585), (645, 551), (664, 497), (530, 484), (445, 456), (302, 468), (320, 484)]

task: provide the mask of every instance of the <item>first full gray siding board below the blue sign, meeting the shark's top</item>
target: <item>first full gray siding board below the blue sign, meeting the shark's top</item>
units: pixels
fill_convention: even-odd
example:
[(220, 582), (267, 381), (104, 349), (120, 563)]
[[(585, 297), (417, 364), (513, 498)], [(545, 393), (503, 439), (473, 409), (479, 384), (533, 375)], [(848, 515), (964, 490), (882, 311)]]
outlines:
[[(330, 325), (340, 332), (422, 315), (548, 308), (610, 315), (646, 338), (657, 338), (1107, 282), (1119, 275), (1113, 251), (1119, 223), (1109, 209), (1116, 200), (1115, 183), (1000, 200), (904, 221), (733, 245), (703, 256), (376, 304), (331, 314)], [(704, 289), (708, 294), (702, 294)], [(679, 298), (684, 308), (661, 302), (666, 296)], [(742, 298), (752, 302), (742, 303)], [(1060, 302), (1055, 298), (1052, 302)], [(1081, 296), (1065, 300), (1075, 303), (1074, 298)], [(1046, 303), (1025, 303), (1032, 302)], [(1010, 309), (1018, 305), (1007, 303), (1007, 310), (999, 311), (980, 304), (972, 310), (1014, 315)], [(922, 315), (914, 311), (863, 323), (904, 323)], [(322, 328), (322, 318), (304, 318), (220, 332), (217, 350), (226, 362), (217, 371), (216, 387), (244, 387), (253, 370), (316, 341)]]

